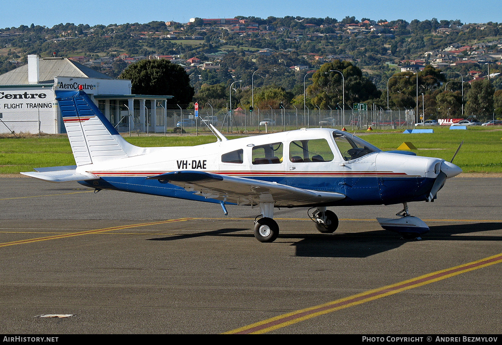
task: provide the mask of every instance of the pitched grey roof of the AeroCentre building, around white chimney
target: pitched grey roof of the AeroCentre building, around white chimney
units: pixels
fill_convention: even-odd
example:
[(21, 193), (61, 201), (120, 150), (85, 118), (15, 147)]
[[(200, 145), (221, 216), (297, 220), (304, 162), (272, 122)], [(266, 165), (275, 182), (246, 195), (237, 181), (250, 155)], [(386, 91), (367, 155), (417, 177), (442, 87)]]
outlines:
[[(51, 84), (54, 77), (113, 79), (75, 61), (64, 58), (39, 59), (39, 83)], [(0, 85), (29, 85), (28, 64), (0, 75)]]

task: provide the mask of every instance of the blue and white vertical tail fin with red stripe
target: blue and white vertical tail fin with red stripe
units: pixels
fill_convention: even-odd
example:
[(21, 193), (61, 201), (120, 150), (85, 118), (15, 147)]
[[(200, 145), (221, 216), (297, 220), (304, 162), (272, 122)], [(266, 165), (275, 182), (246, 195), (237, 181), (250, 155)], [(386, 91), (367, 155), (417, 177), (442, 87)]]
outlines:
[(83, 91), (56, 91), (77, 166), (137, 155)]

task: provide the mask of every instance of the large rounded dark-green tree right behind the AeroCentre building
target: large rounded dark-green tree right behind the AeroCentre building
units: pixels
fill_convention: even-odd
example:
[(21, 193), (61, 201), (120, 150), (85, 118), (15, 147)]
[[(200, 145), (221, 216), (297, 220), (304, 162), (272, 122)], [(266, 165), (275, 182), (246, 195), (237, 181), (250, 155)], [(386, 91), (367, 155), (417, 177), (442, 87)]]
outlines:
[(169, 95), (168, 104), (188, 104), (194, 89), (183, 67), (168, 60), (141, 60), (124, 70), (120, 79), (131, 79), (132, 92), (143, 95)]

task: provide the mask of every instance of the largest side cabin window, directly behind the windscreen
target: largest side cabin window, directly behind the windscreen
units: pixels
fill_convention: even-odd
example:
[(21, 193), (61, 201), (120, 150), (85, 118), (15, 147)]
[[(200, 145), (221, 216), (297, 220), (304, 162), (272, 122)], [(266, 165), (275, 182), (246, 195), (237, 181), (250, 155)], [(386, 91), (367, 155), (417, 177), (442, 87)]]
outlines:
[(289, 145), (289, 159), (293, 163), (325, 162), (333, 158), (326, 139), (298, 140)]

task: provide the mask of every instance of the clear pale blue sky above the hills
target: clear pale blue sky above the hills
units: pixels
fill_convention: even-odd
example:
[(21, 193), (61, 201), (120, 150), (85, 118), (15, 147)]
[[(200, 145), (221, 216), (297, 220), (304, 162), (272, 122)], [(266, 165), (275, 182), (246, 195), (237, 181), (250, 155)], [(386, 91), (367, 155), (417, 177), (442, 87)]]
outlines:
[(4, 1), (0, 28), (20, 25), (52, 27), (59, 23), (123, 24), (151, 21), (186, 23), (190, 18), (233, 18), (255, 16), (260, 18), (300, 16), (389, 21), (404, 19), (408, 22), (426, 20), (460, 20), (462, 23), (502, 23), (500, 0), (201, 0), (201, 1), (138, 1), (138, 0), (18, 0)]

